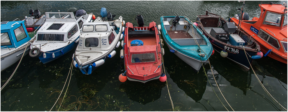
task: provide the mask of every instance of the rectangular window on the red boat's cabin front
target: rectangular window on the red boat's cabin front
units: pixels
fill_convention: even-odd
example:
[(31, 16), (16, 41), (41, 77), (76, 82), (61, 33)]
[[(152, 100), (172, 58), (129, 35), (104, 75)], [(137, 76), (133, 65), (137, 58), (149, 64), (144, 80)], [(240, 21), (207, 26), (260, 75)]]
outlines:
[(154, 62), (155, 54), (154, 53), (145, 53), (145, 54), (132, 54), (132, 63), (139, 62)]

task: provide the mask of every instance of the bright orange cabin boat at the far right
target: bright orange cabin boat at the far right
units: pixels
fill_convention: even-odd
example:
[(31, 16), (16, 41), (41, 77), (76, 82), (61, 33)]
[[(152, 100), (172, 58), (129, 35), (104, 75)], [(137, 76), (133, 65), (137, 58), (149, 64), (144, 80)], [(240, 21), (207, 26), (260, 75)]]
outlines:
[[(243, 5), (244, 6), (244, 5)], [(249, 19), (248, 13), (230, 17), (229, 21), (246, 32), (260, 45), (264, 56), (287, 64), (287, 4), (259, 4), (260, 17)], [(240, 21), (239, 21), (239, 19)]]

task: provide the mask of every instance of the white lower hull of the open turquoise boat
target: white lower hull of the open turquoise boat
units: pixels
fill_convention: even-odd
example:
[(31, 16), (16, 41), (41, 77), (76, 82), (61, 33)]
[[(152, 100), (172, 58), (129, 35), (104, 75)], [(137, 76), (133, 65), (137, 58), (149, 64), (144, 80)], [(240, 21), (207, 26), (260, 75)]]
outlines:
[[(165, 41), (165, 39), (164, 39), (164, 41)], [(168, 46), (169, 50), (172, 49), (172, 50), (175, 50), (175, 51), (176, 51), (176, 49), (174, 49), (174, 48), (172, 48), (171, 46), (169, 46), (169, 44), (167, 44), (166, 41), (165, 41), (165, 43), (166, 43), (166, 45)], [(176, 56), (178, 56), (181, 60), (183, 60), (184, 62), (186, 62), (187, 64), (189, 64), (192, 68), (194, 68), (194, 69), (197, 70), (197, 71), (200, 70), (200, 68), (201, 68), (201, 66), (202, 66), (202, 63), (203, 63), (203, 64), (208, 63), (207, 60), (202, 60), (202, 62), (201, 62), (201, 60), (197, 60), (197, 59), (195, 59), (195, 58), (192, 58), (192, 57), (190, 57), (190, 56), (187, 56), (187, 55), (185, 55), (185, 54), (183, 54), (183, 53), (181, 53), (181, 52), (178, 52), (178, 51), (176, 51), (174, 54), (175, 54)]]

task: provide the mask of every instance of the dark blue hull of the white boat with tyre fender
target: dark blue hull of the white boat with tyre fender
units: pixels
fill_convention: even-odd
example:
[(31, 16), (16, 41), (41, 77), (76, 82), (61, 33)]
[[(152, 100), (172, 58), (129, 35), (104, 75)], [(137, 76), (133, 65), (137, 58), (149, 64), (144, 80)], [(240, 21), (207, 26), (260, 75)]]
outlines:
[[(75, 39), (77, 40), (79, 38), (79, 36)], [(56, 49), (56, 50), (52, 50), (52, 51), (47, 51), (47, 52), (54, 52), (55, 57), (52, 57), (52, 53), (45, 53), (46, 54), (46, 58), (43, 57), (43, 53), (39, 56), (39, 59), (41, 60), (41, 62), (43, 64), (46, 64), (48, 62), (51, 62), (53, 60), (56, 60), (57, 58), (63, 56), (64, 54), (66, 54), (67, 52), (69, 52), (70, 50), (72, 50), (73, 48), (75, 48), (78, 45), (78, 42), (72, 42), (70, 44), (68, 44), (65, 47)], [(63, 54), (61, 53), (61, 50), (63, 51)], [(56, 52), (57, 51), (57, 52)]]

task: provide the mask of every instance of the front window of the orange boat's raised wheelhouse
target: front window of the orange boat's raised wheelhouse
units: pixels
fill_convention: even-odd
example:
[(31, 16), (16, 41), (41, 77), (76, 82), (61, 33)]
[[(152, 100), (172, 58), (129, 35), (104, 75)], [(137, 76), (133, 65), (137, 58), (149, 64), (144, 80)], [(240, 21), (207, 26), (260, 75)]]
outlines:
[(279, 18), (281, 18), (281, 16), (281, 14), (268, 11), (263, 24), (280, 26), (281, 19)]

